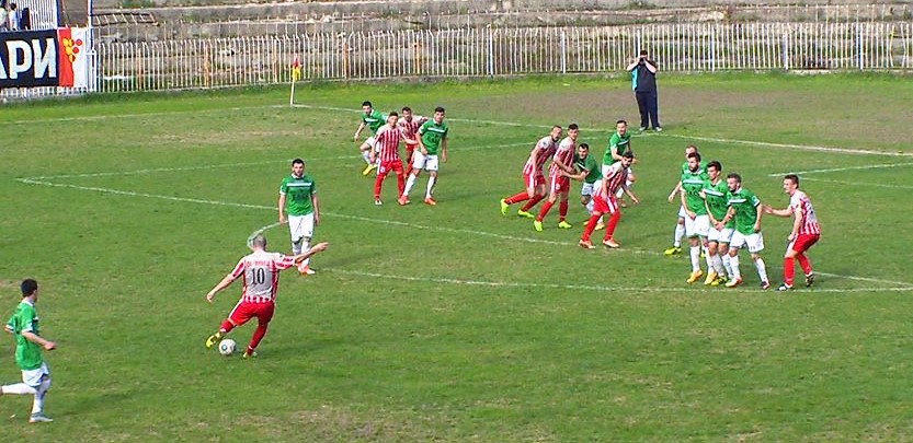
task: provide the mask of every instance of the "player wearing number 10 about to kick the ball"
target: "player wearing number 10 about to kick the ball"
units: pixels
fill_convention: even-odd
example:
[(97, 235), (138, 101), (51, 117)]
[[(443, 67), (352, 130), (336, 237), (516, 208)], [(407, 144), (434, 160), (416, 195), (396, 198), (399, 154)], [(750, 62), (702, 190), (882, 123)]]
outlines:
[(253, 331), (248, 349), (244, 351), (244, 358), (254, 355), (254, 349), (260, 345), (263, 336), (266, 335), (266, 327), (270, 325), (270, 320), (273, 319), (279, 271), (288, 269), (326, 249), (327, 243), (313, 245), (304, 254), (287, 256), (278, 253), (267, 253), (266, 237), (263, 234), (258, 234), (251, 238), (250, 248), (253, 253), (241, 258), (235, 269), (206, 294), (206, 301), (213, 303), (213, 298), (216, 296), (217, 292), (228, 288), (238, 278), (242, 278), (241, 300), (228, 314), (228, 318), (221, 323), (219, 330), (206, 339), (206, 348), (214, 347), (231, 329), (256, 317), (256, 330)]

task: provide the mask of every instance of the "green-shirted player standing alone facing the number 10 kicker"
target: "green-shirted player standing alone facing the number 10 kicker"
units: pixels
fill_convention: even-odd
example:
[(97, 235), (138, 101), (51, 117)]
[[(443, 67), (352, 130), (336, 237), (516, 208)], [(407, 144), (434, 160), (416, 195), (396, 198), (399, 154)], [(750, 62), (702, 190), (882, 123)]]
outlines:
[[(299, 255), (310, 248), (313, 228), (320, 224), (320, 207), (317, 200), (317, 185), (311, 176), (305, 174), (305, 161), (292, 161), (292, 175), (282, 179), (279, 185), (279, 200), (276, 205), (279, 212), (279, 224), (286, 222), (288, 213), (288, 230), (292, 233), (292, 254)], [(298, 264), (298, 272), (303, 276), (313, 275), (310, 259)]]

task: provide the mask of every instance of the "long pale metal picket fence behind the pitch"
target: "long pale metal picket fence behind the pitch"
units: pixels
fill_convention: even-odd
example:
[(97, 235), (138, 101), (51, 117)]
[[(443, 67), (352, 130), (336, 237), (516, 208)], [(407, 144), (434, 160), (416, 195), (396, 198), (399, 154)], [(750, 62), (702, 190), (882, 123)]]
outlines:
[(304, 80), (617, 72), (640, 48), (649, 48), (664, 71), (909, 70), (913, 24), (458, 28), (100, 43), (98, 90), (287, 82), (296, 56)]

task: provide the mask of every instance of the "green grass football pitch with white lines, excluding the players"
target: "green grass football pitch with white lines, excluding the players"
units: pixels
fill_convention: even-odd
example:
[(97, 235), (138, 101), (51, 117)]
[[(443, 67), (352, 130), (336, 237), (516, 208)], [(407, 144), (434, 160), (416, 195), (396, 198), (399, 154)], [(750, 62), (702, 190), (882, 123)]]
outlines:
[[(0, 398), (7, 440), (36, 441), (913, 441), (909, 275), (913, 140), (909, 78), (661, 79), (663, 133), (637, 136), (641, 205), (619, 250), (583, 250), (572, 185), (536, 233), (499, 213), (529, 148), (578, 123), (601, 154), (624, 79), (299, 85), (46, 102), (2, 109), (0, 292), (42, 284), (54, 386)], [(352, 133), (363, 100), (447, 108), (437, 207), (375, 207)], [(285, 105), (283, 105), (285, 104)], [(353, 110), (345, 110), (353, 109)], [(665, 197), (694, 142), (785, 207), (799, 172), (822, 221), (819, 280), (783, 294), (687, 285), (664, 257)], [(239, 294), (206, 292), (276, 222), (301, 156), (318, 183), (319, 271), (282, 278), (260, 357), (203, 347)], [(772, 283), (790, 221), (765, 218)], [(266, 228), (288, 252), (284, 228)], [(601, 234), (597, 234), (601, 235)], [(801, 278), (800, 270), (797, 273)], [(244, 346), (253, 330), (232, 333)], [(11, 354), (0, 380), (20, 378)], [(13, 417), (14, 416), (14, 417)], [(7, 419), (9, 417), (9, 419)]]

